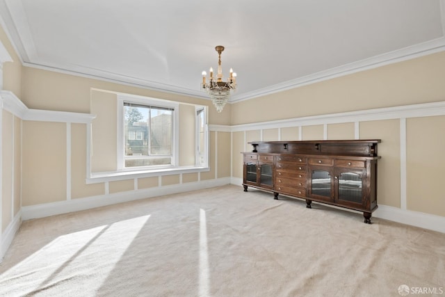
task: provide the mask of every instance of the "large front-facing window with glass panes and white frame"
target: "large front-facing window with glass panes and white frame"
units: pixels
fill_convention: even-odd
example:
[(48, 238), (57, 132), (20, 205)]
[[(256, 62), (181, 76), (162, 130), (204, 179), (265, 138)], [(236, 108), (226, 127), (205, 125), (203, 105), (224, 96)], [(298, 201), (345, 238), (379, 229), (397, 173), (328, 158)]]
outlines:
[(118, 99), (118, 170), (177, 164), (176, 102), (121, 95)]

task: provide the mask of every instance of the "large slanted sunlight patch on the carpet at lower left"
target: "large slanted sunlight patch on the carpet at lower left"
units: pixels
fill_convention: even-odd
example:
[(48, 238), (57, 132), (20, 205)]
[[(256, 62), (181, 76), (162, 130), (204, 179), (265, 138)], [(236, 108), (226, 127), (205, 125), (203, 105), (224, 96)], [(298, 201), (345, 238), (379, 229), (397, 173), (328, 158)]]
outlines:
[[(84, 292), (94, 294), (149, 217), (120, 220), (58, 236), (1, 275), (0, 296), (5, 293), (3, 289), (8, 289), (8, 294), (24, 291), (27, 294), (49, 293), (55, 284), (63, 286), (67, 280), (88, 282), (88, 279), (95, 278), (94, 282), (85, 286), (88, 289)], [(95, 262), (93, 259), (103, 260)]]

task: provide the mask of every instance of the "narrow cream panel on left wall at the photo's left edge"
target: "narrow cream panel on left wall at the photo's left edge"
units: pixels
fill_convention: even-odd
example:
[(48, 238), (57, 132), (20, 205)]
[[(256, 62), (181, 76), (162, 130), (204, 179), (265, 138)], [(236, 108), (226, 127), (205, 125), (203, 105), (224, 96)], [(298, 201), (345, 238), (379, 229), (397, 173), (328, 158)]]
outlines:
[(1, 211), (2, 211), (2, 232), (13, 220), (13, 125), (14, 116), (7, 111), (2, 111), (2, 188), (1, 188)]

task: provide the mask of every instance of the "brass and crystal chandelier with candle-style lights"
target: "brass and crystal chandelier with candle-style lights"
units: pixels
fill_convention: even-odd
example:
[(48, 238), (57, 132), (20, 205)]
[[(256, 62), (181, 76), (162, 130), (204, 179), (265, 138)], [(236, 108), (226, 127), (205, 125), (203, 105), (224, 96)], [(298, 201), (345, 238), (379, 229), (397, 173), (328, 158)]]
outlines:
[[(229, 79), (223, 81), (223, 70), (221, 68), (221, 53), (224, 51), (222, 45), (215, 47), (218, 51), (218, 74), (213, 77), (213, 69), (210, 67), (210, 77), (206, 78), (207, 72), (202, 72), (202, 88), (209, 94), (216, 111), (220, 113), (230, 98), (230, 91), (236, 90), (236, 73), (230, 68)], [(206, 81), (208, 79), (208, 82)]]

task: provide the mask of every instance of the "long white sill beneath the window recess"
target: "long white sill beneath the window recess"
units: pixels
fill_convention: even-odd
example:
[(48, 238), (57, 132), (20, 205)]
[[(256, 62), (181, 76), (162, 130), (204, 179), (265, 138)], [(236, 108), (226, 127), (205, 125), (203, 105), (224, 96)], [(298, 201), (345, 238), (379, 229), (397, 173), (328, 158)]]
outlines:
[(97, 184), (100, 182), (113, 182), (124, 179), (136, 179), (143, 177), (158, 177), (163, 175), (179, 175), (183, 173), (210, 171), (209, 167), (203, 166), (184, 166), (175, 168), (163, 168), (153, 170), (131, 170), (131, 171), (113, 171), (113, 172), (94, 172), (86, 178), (86, 184)]

